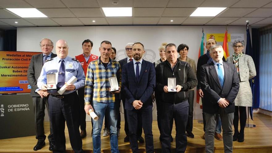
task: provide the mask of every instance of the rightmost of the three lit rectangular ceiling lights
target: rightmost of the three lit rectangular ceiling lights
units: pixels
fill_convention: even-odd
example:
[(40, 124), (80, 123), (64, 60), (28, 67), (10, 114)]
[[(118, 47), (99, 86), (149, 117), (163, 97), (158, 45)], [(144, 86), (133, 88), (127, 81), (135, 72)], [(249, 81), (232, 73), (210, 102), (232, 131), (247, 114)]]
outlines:
[(198, 7), (190, 16), (216, 16), (227, 7)]

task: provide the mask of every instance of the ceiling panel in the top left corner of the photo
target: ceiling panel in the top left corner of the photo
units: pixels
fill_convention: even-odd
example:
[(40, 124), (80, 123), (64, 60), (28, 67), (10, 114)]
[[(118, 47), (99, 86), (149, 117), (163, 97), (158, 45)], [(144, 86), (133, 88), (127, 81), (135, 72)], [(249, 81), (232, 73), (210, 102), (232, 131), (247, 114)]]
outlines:
[(2, 8), (33, 8), (27, 2), (22, 0), (0, 0)]

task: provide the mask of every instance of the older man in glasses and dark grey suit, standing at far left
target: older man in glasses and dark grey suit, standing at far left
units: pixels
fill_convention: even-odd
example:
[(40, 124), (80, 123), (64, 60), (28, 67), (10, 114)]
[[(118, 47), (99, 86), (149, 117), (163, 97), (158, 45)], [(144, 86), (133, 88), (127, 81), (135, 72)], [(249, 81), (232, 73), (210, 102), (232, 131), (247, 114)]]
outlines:
[[(47, 59), (54, 58), (57, 55), (52, 53), (53, 42), (50, 39), (44, 38), (40, 41), (40, 48), (42, 54), (33, 55), (28, 67), (28, 83), (31, 86), (31, 93), (34, 106), (35, 126), (36, 126), (36, 139), (38, 142), (33, 150), (40, 150), (45, 146), (45, 130), (44, 130), (44, 117), (45, 117), (45, 105), (47, 113), (49, 113), (48, 96), (47, 91), (42, 91), (37, 87), (37, 79), (40, 76), (40, 72), (43, 64)], [(52, 125), (50, 123), (49, 150), (52, 151), (55, 147)]]

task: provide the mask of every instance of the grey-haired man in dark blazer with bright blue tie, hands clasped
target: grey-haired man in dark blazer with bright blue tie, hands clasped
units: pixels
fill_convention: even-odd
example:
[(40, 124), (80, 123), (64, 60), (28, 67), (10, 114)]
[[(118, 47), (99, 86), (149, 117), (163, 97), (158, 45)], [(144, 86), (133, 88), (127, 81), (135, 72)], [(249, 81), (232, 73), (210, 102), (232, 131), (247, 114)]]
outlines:
[(207, 153), (214, 151), (216, 116), (220, 115), (223, 128), (224, 152), (232, 152), (232, 124), (235, 112), (234, 100), (239, 90), (239, 78), (235, 65), (223, 62), (221, 45), (210, 48), (212, 62), (201, 66), (200, 84), (204, 93), (205, 146)]

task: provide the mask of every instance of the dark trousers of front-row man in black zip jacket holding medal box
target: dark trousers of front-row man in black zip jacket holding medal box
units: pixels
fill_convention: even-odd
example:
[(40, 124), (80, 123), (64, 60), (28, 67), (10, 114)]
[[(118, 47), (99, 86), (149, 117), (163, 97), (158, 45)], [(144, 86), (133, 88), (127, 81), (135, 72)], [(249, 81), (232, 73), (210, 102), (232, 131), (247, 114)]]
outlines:
[(171, 152), (171, 119), (175, 120), (176, 125), (176, 152), (185, 152), (187, 147), (186, 125), (188, 121), (189, 103), (184, 101), (178, 104), (162, 103), (162, 152)]

